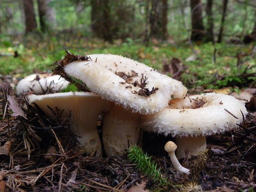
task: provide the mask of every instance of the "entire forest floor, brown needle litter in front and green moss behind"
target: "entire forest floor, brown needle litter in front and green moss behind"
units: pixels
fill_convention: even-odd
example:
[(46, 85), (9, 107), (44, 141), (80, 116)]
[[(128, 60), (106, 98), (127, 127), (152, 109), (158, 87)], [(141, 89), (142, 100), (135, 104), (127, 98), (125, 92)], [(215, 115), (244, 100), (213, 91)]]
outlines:
[[(103, 45), (99, 49), (94, 49), (93, 43), (87, 45), (93, 47), (92, 49), (87, 47), (88, 49), (100, 53), (105, 53), (106, 49), (102, 47), (108, 46)], [(38, 44), (37, 49), (43, 50), (41, 47), (45, 46), (44, 43)], [(208, 136), (206, 153), (180, 160), (183, 166), (196, 170), (193, 175), (180, 175), (173, 168), (168, 154), (164, 151), (164, 145), (167, 141), (173, 140), (172, 137), (144, 132), (142, 148), (155, 161), (157, 167), (161, 168), (162, 177), (167, 177), (168, 182), (163, 185), (163, 183), (156, 182), (154, 177), (137, 169), (137, 164), (131, 162), (126, 155), (88, 157), (86, 154), (76, 153), (73, 150), (76, 145), (76, 137), (70, 134), (67, 128), (68, 123), (64, 121), (65, 116), (55, 116), (55, 119), (49, 119), (41, 111), (27, 105), (24, 97), (13, 97), (15, 90), (11, 87), (15, 87), (18, 79), (32, 71), (31, 66), (38, 71), (45, 70), (38, 65), (39, 62), (43, 62), (47, 68), (54, 66), (52, 61), (60, 58), (60, 54), (59, 52), (56, 53), (57, 49), (54, 46), (50, 43), (47, 50), (55, 50), (55, 58), (48, 58), (49, 52), (48, 54), (42, 52), (38, 58), (34, 58), (34, 49), (28, 50), (19, 47), (18, 49), (23, 49), (20, 60), (9, 59), (9, 55), (7, 55), (0, 61), (1, 67), (6, 66), (6, 71), (2, 71), (0, 76), (0, 192), (119, 192), (127, 191), (131, 186), (139, 186), (141, 191), (147, 189), (164, 192), (256, 191), (255, 93), (250, 98), (250, 102), (246, 104), (249, 114), (244, 118), (244, 122), (239, 125), (239, 128), (224, 134)], [(217, 53), (214, 50), (216, 54), (213, 54), (213, 58), (215, 56), (217, 58), (214, 64), (212, 64), (212, 55), (205, 52), (201, 47), (194, 49), (194, 54), (193, 51), (180, 51), (180, 49), (176, 50), (175, 47), (166, 49), (165, 45), (162, 47), (153, 46), (148, 51), (146, 48), (137, 47), (133, 42), (123, 44), (122, 48), (124, 48), (125, 56), (137, 57), (145, 60), (145, 62), (151, 62), (149, 65), (158, 67), (157, 70), (162, 70), (164, 64), (170, 64), (167, 65), (166, 73), (176, 74), (177, 79), (182, 79), (184, 84), (189, 87), (188, 92), (190, 94), (213, 90), (229, 91), (230, 87), (228, 86), (242, 90), (244, 87), (241, 84), (245, 87), (255, 86), (255, 79), (252, 80), (253, 77), (255, 78), (255, 72), (249, 71), (249, 73), (248, 67), (246, 67), (254, 65), (255, 69), (253, 47), (245, 47), (247, 50), (245, 53), (241, 51), (241, 47), (232, 49), (228, 51), (228, 54), (233, 54), (233, 50), (236, 50), (236, 54), (238, 54), (232, 56), (225, 55), (227, 47), (225, 49), (219, 47)], [(116, 46), (115, 49), (109, 49), (112, 50), (109, 52), (113, 54), (122, 55), (119, 46)], [(199, 49), (201, 49), (201, 53), (198, 52)], [(183, 61), (189, 56), (194, 57), (190, 57), (190, 61), (187, 61), (190, 62), (189, 65), (183, 65), (178, 60), (162, 61), (165, 59), (164, 55), (169, 57), (170, 50), (171, 54), (177, 54), (177, 58)], [(210, 52), (212, 53), (212, 51), (213, 49)], [(61, 54), (63, 54), (63, 49), (61, 49)], [(185, 58), (181, 58), (182, 55)], [(163, 66), (154, 65), (154, 61), (159, 63), (160, 59)], [(12, 68), (6, 63), (14, 63), (14, 65), (17, 63), (20, 66)], [(216, 67), (220, 67), (220, 70), (217, 70)], [(237, 71), (238, 68), (239, 71)], [(251, 69), (253, 68), (250, 67), (249, 70)], [(229, 75), (225, 73), (227, 71)], [(20, 76), (19, 73), (23, 73), (23, 75)], [(230, 76), (230, 74), (234, 75)], [(214, 78), (211, 79), (211, 77)], [(190, 81), (191, 79), (193, 81)], [(218, 83), (216, 84), (216, 82)], [(196, 86), (193, 87), (193, 84)], [(223, 89), (219, 90), (218, 88)], [(98, 125), (101, 135), (100, 119)], [(139, 189), (135, 191), (139, 191)]]

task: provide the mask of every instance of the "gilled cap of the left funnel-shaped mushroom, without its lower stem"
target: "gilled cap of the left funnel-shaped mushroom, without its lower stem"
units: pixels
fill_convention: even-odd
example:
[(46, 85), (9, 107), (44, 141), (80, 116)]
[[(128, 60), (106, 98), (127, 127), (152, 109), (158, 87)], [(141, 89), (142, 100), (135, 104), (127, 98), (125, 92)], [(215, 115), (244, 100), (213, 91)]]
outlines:
[[(67, 92), (47, 95), (28, 95), (29, 104), (35, 103), (47, 116), (53, 117), (52, 109), (57, 107), (70, 114), (70, 128), (76, 136), (81, 137), (89, 127), (96, 126), (96, 120), (101, 113), (110, 108), (110, 103), (99, 95), (90, 92)], [(95, 120), (95, 121), (94, 121)]]

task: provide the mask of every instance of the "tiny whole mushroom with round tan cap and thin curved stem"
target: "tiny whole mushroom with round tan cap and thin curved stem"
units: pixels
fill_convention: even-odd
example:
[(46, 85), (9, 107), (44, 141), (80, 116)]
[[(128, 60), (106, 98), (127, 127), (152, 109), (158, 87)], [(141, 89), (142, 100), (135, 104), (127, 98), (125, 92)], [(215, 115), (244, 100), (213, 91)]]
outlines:
[(172, 141), (168, 141), (166, 145), (164, 146), (164, 149), (169, 154), (172, 165), (174, 168), (179, 172), (180, 174), (189, 174), (189, 169), (186, 169), (185, 167), (180, 165), (180, 162), (178, 161), (177, 157), (175, 156), (175, 149), (177, 148), (177, 145), (173, 143)]

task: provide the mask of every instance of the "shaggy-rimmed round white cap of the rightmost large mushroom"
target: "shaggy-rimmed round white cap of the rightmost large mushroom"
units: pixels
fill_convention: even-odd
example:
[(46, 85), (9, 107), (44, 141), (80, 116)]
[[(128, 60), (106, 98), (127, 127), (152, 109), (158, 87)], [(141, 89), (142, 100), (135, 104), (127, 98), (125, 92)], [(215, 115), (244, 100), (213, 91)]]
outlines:
[(205, 93), (189, 98), (173, 99), (168, 108), (143, 116), (143, 128), (173, 137), (206, 136), (238, 127), (247, 115), (244, 104), (233, 96)]

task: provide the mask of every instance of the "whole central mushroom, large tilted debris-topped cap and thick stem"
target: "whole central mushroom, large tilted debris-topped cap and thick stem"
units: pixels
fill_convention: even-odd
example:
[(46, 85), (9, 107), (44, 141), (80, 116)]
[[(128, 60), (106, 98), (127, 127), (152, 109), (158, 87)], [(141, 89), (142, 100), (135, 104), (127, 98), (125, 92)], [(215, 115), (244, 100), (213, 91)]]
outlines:
[(128, 144), (137, 144), (142, 137), (138, 113), (154, 113), (168, 106), (172, 97), (186, 95), (186, 87), (180, 81), (130, 58), (88, 56), (92, 61), (73, 61), (64, 66), (64, 71), (83, 81), (102, 98), (121, 106), (113, 107), (104, 118), (103, 142), (110, 156), (124, 154)]

